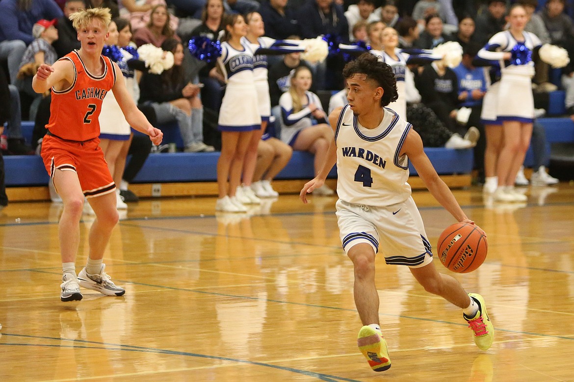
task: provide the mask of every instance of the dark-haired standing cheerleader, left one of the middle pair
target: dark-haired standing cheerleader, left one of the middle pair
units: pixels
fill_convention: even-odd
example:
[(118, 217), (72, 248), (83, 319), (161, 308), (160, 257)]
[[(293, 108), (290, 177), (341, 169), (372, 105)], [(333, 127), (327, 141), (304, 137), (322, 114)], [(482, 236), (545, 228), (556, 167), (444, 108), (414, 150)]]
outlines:
[[(261, 129), (261, 115), (253, 76), (253, 52), (243, 39), (247, 34), (245, 19), (234, 14), (227, 18), (224, 27), (226, 33), (222, 38), (218, 67), (227, 86), (218, 120), (222, 149), (217, 164), (219, 198), (215, 209), (246, 212), (236, 191), (241, 185), (243, 163), (253, 132)], [(235, 62), (241, 62), (241, 65), (235, 65)]]

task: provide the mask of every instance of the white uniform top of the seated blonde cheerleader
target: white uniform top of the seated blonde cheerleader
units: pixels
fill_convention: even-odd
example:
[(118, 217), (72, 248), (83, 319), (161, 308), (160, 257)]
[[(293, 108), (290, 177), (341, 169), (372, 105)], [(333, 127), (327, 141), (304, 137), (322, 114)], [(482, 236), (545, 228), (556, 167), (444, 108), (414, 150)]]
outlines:
[[(318, 109), (323, 110), (323, 105), (321, 105), (321, 100), (319, 100), (317, 94), (307, 90), (305, 96), (307, 98), (307, 105), (315, 104)], [(300, 111), (294, 113), (293, 98), (289, 92), (281, 94), (279, 105), (281, 107), (281, 140), (293, 146), (301, 130), (313, 125), (311, 109), (309, 109), (309, 106), (305, 106)]]

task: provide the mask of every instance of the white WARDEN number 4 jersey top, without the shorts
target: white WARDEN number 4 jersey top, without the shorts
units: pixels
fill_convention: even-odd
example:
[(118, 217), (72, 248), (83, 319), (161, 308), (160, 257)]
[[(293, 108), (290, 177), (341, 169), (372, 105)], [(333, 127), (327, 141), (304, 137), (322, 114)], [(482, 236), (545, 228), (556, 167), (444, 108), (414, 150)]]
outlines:
[(369, 206), (390, 206), (408, 199), (409, 159), (400, 153), (410, 128), (387, 108), (377, 128), (364, 128), (346, 105), (335, 132), (339, 198)]

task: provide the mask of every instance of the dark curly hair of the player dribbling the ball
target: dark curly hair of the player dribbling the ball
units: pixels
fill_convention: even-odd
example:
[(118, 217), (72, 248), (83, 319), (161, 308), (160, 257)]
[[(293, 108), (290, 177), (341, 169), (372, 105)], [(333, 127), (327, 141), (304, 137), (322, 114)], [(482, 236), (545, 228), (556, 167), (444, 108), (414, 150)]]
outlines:
[(393, 69), (371, 53), (363, 53), (354, 61), (348, 62), (343, 69), (343, 77), (351, 78), (355, 74), (363, 74), (367, 80), (377, 82), (383, 88), (381, 106), (385, 107), (398, 99), (397, 80)]

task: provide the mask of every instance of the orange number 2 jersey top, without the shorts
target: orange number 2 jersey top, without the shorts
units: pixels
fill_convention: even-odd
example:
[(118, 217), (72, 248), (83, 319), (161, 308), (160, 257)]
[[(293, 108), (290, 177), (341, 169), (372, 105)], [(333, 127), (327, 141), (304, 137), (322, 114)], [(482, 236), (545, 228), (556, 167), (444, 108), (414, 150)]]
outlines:
[(76, 50), (60, 58), (72, 61), (75, 77), (67, 89), (52, 88), (50, 121), (46, 128), (53, 135), (74, 141), (86, 141), (100, 135), (98, 117), (102, 100), (115, 84), (113, 63), (108, 57), (100, 57), (104, 64), (101, 76), (88, 72)]

